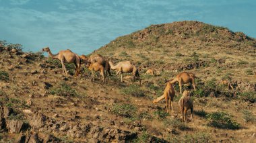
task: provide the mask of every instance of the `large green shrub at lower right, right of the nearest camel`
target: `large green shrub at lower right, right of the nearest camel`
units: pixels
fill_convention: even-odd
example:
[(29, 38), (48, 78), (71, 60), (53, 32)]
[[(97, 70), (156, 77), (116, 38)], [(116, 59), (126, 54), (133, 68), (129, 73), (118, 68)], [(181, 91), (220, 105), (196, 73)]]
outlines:
[(216, 128), (223, 128), (223, 129), (231, 129), (236, 130), (241, 128), (241, 125), (231, 119), (231, 116), (228, 113), (224, 113), (221, 111), (217, 111), (214, 113), (210, 113), (207, 116), (207, 120), (209, 123), (207, 126), (212, 126)]

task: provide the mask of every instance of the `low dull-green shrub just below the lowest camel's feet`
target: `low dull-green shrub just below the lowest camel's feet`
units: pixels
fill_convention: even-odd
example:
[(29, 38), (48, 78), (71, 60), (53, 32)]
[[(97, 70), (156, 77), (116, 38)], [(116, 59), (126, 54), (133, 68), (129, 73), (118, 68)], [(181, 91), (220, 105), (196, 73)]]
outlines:
[(179, 130), (189, 130), (190, 129), (186, 124), (181, 122), (181, 120), (177, 120), (177, 119), (164, 120), (164, 126), (170, 126), (171, 128), (179, 129)]

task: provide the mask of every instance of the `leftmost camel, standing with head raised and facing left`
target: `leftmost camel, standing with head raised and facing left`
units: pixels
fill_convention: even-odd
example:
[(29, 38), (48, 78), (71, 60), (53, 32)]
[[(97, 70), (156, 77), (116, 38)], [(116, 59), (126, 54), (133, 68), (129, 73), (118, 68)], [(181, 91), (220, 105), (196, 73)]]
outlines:
[(42, 48), (42, 52), (48, 52), (48, 54), (51, 58), (61, 60), (63, 74), (64, 74), (64, 72), (67, 74), (67, 70), (66, 70), (65, 64), (64, 64), (64, 62), (67, 62), (67, 63), (75, 64), (75, 77), (77, 77), (79, 75), (80, 68), (81, 68), (80, 57), (77, 54), (73, 53), (71, 50), (69, 50), (69, 49), (61, 50), (57, 54), (53, 54), (51, 52), (50, 48), (46, 47), (46, 48)]

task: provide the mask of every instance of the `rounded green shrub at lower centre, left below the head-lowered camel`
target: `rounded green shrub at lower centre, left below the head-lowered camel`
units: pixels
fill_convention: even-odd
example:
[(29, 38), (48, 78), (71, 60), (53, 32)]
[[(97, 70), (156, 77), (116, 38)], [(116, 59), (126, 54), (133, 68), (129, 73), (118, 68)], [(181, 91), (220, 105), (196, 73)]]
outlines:
[(128, 104), (128, 103), (120, 103), (120, 104), (115, 104), (113, 106), (113, 109), (111, 109), (111, 111), (116, 115), (120, 115), (122, 117), (135, 117), (137, 112), (137, 107), (135, 107), (135, 105)]

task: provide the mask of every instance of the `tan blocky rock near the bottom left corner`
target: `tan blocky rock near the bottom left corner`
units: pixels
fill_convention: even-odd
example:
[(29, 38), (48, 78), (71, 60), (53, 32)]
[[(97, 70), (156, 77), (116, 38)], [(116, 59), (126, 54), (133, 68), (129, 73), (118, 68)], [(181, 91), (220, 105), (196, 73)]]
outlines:
[(7, 130), (9, 133), (20, 133), (22, 130), (25, 130), (24, 122), (20, 120), (11, 120), (7, 122)]

